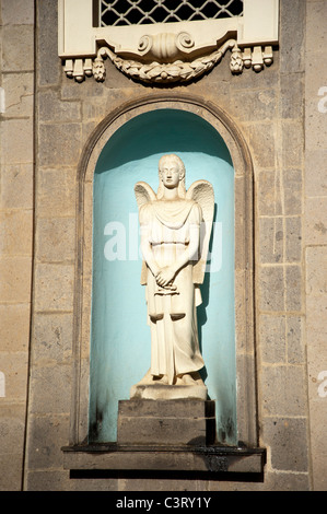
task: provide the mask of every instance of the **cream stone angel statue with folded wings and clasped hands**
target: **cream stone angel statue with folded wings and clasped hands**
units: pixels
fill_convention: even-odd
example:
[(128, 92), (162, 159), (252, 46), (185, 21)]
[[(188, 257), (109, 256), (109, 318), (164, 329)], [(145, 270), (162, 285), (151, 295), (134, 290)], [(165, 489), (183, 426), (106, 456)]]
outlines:
[[(197, 309), (201, 303), (214, 195), (207, 180), (186, 191), (185, 166), (175, 154), (159, 162), (156, 195), (144, 182), (135, 194), (139, 207), (141, 284), (151, 328), (151, 367), (142, 384), (203, 385)], [(140, 384), (141, 384), (140, 383)]]

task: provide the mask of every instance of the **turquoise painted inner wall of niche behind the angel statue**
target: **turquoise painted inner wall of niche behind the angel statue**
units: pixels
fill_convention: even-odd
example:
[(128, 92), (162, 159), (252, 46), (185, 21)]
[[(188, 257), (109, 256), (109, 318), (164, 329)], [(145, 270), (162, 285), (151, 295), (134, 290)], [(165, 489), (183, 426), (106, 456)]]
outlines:
[(90, 442), (117, 435), (119, 399), (150, 367), (150, 328), (140, 285), (138, 206), (133, 186), (157, 189), (157, 162), (177, 153), (186, 187), (205, 178), (213, 185), (215, 212), (208, 272), (198, 307), (201, 371), (217, 400), (218, 440), (236, 441), (234, 319), (234, 170), (218, 131), (192, 113), (160, 109), (140, 115), (108, 140), (94, 174), (93, 285), (90, 369)]

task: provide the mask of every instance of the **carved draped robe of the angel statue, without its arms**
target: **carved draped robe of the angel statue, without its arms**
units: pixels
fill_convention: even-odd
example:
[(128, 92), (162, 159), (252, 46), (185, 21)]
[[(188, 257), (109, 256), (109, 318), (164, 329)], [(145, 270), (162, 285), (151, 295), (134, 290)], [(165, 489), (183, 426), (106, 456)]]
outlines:
[[(199, 238), (202, 211), (189, 199), (150, 201), (140, 208), (140, 226), (160, 268), (172, 265), (189, 247), (192, 234)], [(196, 307), (201, 303), (194, 283), (194, 265), (199, 254), (176, 273), (172, 284), (161, 288), (147, 267), (148, 323), (151, 328), (151, 374), (176, 375), (203, 367), (199, 349)]]

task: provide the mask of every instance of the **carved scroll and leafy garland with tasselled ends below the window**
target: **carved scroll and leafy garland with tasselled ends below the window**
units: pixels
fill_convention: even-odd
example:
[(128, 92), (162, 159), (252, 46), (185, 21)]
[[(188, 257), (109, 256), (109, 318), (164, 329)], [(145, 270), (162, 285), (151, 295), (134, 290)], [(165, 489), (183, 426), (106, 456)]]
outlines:
[(272, 62), (271, 46), (241, 49), (236, 39), (227, 39), (218, 49), (211, 52), (203, 49), (202, 56), (189, 59), (188, 52), (192, 47), (194, 38), (186, 32), (144, 35), (139, 42), (136, 60), (120, 57), (108, 46), (102, 46), (92, 66), (91, 59), (75, 59), (75, 62), (66, 62), (65, 70), (78, 82), (92, 74), (97, 82), (103, 82), (106, 77), (104, 60), (109, 58), (118, 70), (133, 80), (168, 84), (199, 78), (220, 62), (227, 49), (231, 50), (230, 69), (234, 74), (250, 67), (258, 72)]

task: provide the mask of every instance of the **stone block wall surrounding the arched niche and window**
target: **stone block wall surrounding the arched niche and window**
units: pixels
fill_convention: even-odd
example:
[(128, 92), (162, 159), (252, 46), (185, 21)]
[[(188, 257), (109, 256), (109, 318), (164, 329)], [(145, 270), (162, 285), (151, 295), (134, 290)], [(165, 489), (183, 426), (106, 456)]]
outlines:
[[(72, 480), (62, 468), (60, 448), (69, 443), (74, 359), (79, 159), (106, 115), (127, 101), (144, 94), (154, 97), (162, 90), (132, 82), (109, 61), (104, 83), (93, 78), (82, 83), (67, 79), (57, 52), (56, 2), (37, 2), (34, 282), (25, 489), (326, 489), (323, 417), (327, 398), (318, 394), (318, 377), (327, 370), (323, 319), (327, 114), (324, 117), (317, 106), (319, 101), (323, 110), (327, 106), (318, 95), (318, 90), (327, 85), (323, 65), (327, 2), (281, 0), (280, 4), (280, 48), (275, 51), (271, 67), (260, 73), (245, 70), (232, 75), (227, 59), (223, 59), (196, 83), (174, 87), (175, 93), (195, 94), (224, 109), (242, 131), (254, 162), (256, 379), (259, 443), (267, 448), (267, 464), (264, 481), (250, 482), (240, 477), (226, 481), (122, 476)], [(9, 152), (14, 153), (14, 149)], [(21, 198), (26, 201), (24, 195)], [(32, 209), (31, 203), (27, 208)], [(22, 376), (14, 357), (11, 347), (11, 362), (5, 366)], [(3, 405), (9, 408), (2, 402), (1, 409)], [(7, 466), (8, 458), (3, 463)]]

